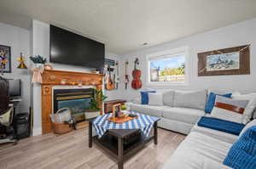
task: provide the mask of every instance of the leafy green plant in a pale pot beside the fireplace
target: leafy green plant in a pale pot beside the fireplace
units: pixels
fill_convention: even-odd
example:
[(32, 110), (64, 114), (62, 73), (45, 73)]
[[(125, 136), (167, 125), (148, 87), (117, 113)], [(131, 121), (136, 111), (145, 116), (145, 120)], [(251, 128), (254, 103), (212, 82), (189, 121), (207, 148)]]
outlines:
[(91, 88), (94, 92), (94, 97), (90, 100), (90, 109), (85, 110), (85, 119), (90, 119), (101, 114), (101, 104), (108, 97), (105, 96), (102, 90)]

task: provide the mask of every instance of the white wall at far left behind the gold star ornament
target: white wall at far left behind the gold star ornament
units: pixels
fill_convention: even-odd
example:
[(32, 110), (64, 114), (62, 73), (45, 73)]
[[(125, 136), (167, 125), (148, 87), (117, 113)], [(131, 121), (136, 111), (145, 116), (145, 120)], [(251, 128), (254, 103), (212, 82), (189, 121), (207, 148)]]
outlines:
[(30, 79), (29, 70), (17, 69), (19, 62), (17, 58), (20, 56), (20, 52), (23, 53), (26, 59), (26, 65), (29, 65), (28, 58), (30, 56), (29, 46), (29, 31), (16, 27), (13, 25), (7, 25), (0, 23), (0, 44), (11, 47), (11, 73), (4, 73), (3, 77), (11, 79), (21, 79), (21, 112), (28, 112), (30, 106)]

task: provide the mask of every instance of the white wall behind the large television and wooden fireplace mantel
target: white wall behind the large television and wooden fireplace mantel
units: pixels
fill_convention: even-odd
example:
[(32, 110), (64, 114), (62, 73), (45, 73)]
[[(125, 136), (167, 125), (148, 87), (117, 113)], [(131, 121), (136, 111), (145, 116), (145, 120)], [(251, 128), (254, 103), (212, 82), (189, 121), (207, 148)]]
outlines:
[[(40, 22), (38, 20), (32, 21), (32, 55), (41, 55), (49, 61), (49, 24), (44, 22)], [(108, 51), (106, 52), (106, 58), (108, 59), (118, 59), (118, 55), (111, 54)], [(72, 70), (72, 71), (80, 71), (80, 72), (89, 72), (90, 69), (86, 69), (80, 66), (73, 65), (61, 65), (54, 64), (55, 70)], [(114, 91), (106, 91), (108, 99), (114, 99), (118, 97), (118, 90)], [(38, 135), (42, 133), (42, 119), (41, 119), (41, 86), (40, 84), (33, 84), (32, 89), (32, 107), (34, 110), (34, 129), (33, 135)]]

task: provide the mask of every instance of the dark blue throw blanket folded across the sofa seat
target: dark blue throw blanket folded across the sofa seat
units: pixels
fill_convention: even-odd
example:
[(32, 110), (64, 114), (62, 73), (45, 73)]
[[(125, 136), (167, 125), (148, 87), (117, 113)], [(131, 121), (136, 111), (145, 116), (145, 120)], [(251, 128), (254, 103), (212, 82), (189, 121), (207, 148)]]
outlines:
[(197, 126), (207, 127), (221, 132), (228, 132), (237, 136), (240, 134), (242, 128), (245, 127), (245, 125), (241, 123), (224, 121), (221, 119), (205, 116), (201, 117), (200, 121), (197, 123)]

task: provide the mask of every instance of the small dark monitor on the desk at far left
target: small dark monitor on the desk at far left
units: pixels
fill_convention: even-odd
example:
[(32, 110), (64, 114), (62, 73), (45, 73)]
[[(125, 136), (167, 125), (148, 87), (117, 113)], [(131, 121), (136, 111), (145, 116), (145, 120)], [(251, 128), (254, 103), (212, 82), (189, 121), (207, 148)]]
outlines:
[(18, 97), (21, 96), (21, 82), (20, 79), (9, 79), (9, 96)]

